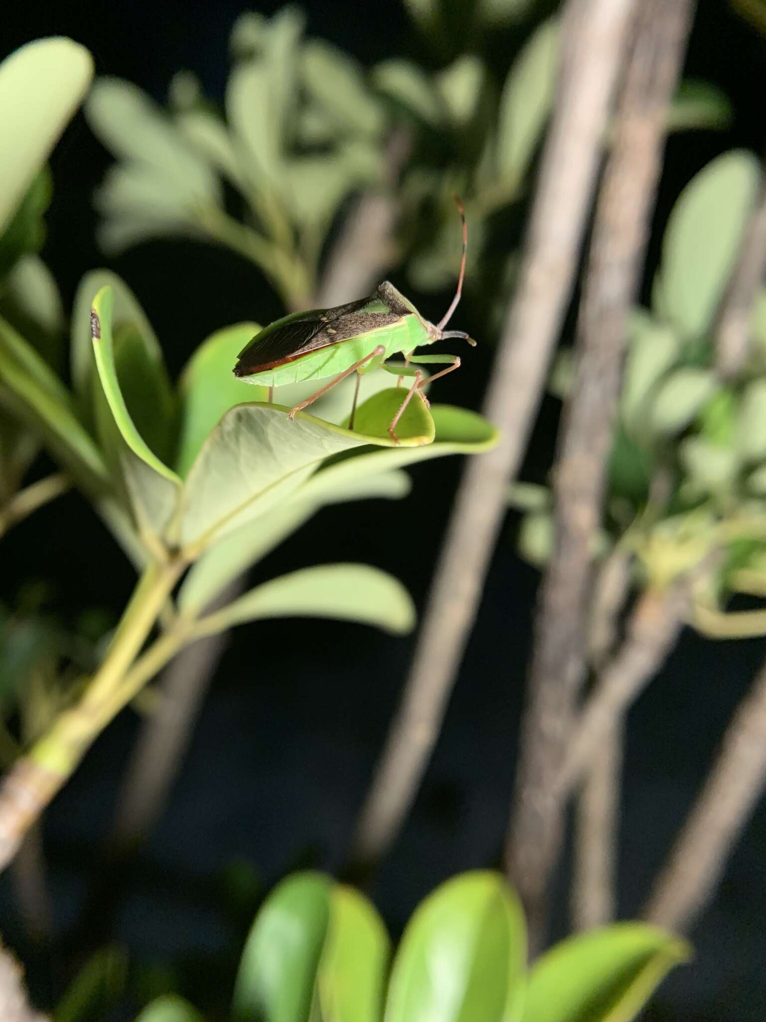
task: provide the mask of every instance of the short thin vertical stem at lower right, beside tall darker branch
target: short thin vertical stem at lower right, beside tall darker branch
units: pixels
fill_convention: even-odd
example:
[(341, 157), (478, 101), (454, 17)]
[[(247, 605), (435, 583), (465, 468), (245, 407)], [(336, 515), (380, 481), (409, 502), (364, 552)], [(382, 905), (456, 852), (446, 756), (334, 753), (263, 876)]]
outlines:
[(622, 721), (602, 735), (575, 809), (572, 923), (576, 930), (615, 917), (622, 777)]

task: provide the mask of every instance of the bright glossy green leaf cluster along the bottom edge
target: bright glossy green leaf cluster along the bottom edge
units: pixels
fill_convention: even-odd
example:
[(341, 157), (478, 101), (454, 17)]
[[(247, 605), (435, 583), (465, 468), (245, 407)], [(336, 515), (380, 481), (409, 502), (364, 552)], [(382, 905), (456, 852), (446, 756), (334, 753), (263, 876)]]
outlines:
[(518, 898), (498, 874), (475, 871), (418, 907), (391, 957), (362, 893), (321, 873), (292, 874), (255, 917), (230, 1010), (227, 991), (205, 989), (200, 1014), (169, 988), (137, 1022), (630, 1022), (689, 947), (619, 923), (571, 937), (528, 968)]

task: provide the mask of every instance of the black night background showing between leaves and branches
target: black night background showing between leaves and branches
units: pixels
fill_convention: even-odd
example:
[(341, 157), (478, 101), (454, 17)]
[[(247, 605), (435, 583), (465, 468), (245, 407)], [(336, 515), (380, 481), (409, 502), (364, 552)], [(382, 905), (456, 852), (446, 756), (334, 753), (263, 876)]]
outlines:
[[(207, 93), (221, 100), (235, 17), (245, 9), (271, 13), (279, 6), (261, 2), (248, 7), (232, 0), (14, 4), (3, 12), (0, 55), (36, 37), (64, 34), (91, 49), (97, 74), (130, 79), (159, 101), (171, 76), (182, 67), (193, 69)], [(404, 55), (438, 66), (398, 3), (365, 4), (364, 17), (354, 0), (307, 0), (302, 6), (308, 35), (330, 40), (365, 64)], [(501, 35), (491, 41), (488, 55), (501, 76), (508, 65)], [(688, 178), (732, 146), (762, 151), (765, 57), (761, 38), (726, 4), (700, 5), (686, 74), (724, 89), (735, 118), (727, 132), (685, 133), (669, 142), (650, 268), (670, 205)], [(90, 198), (107, 164), (106, 153), (78, 117), (53, 157), (55, 193), (43, 250), (66, 308), (82, 274), (104, 264), (94, 244)], [(266, 323), (282, 312), (256, 271), (211, 246), (151, 242), (108, 265), (139, 296), (173, 374), (213, 329), (244, 319)], [(394, 275), (393, 280), (429, 318), (447, 300), (414, 294), (404, 278)], [(469, 295), (459, 325), (481, 336), (477, 320), (481, 310)], [(461, 373), (443, 381), (439, 400), (479, 407), (493, 339), (472, 351)], [(544, 479), (557, 414), (558, 406), (546, 399), (525, 478)], [(257, 568), (257, 576), (358, 559), (400, 577), (423, 607), (460, 464), (447, 459), (412, 471), (414, 491), (405, 501), (368, 501), (321, 512)], [(515, 556), (514, 527), (512, 518), (494, 556), (426, 782), (371, 888), (394, 935), (442, 879), (499, 861), (538, 577)], [(49, 608), (64, 621), (93, 607), (116, 617), (134, 583), (123, 555), (76, 495), (14, 530), (3, 542), (0, 563), (0, 600), (11, 600), (30, 578), (45, 578), (52, 583)], [(623, 918), (638, 911), (763, 645), (703, 644), (685, 635), (662, 677), (631, 712), (620, 863)], [(116, 936), (136, 961), (198, 956), (208, 962), (207, 972), (197, 962), (198, 977), (213, 975), (210, 963), (239, 939), (222, 911), (223, 888), (217, 880), (232, 862), (250, 863), (267, 886), (296, 865), (341, 868), (413, 648), (413, 639), (393, 640), (340, 623), (276, 621), (234, 633), (172, 803), (123, 901)], [(87, 881), (100, 869), (100, 841), (136, 729), (135, 715), (125, 712), (96, 743), (46, 818), (59, 933), (77, 923)], [(666, 981), (649, 1018), (755, 1022), (763, 1017), (765, 881), (766, 806), (761, 805), (731, 857), (715, 904), (691, 934), (696, 962)], [(562, 876), (559, 933), (566, 891)], [(23, 935), (6, 878), (0, 897), (0, 931), (23, 957)], [(55, 987), (65, 979), (74, 961), (70, 948), (68, 954), (59, 950), (52, 961), (30, 950), (29, 960), (41, 997), (50, 994), (51, 982)]]

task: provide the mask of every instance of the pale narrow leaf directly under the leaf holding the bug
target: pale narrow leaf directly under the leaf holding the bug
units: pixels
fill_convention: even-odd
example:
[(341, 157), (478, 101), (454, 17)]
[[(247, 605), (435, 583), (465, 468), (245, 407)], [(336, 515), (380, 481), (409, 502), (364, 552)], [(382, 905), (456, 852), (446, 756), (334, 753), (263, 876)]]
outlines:
[(213, 544), (195, 561), (179, 591), (182, 613), (194, 615), (202, 610), (234, 578), (279, 546), (307, 521), (320, 503), (354, 501), (370, 497), (396, 500), (410, 492), (406, 473), (393, 470), (379, 475), (346, 478), (337, 490), (327, 487), (322, 501), (301, 500), (300, 490), (288, 502), (267, 511), (254, 521), (235, 529)]

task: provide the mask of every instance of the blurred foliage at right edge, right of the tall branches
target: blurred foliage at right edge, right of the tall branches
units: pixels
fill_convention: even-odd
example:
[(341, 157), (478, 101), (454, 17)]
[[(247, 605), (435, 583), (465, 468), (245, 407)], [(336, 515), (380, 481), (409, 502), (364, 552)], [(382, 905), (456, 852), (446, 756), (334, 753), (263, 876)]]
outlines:
[[(683, 189), (662, 242), (650, 309), (629, 323), (601, 553), (634, 555), (636, 584), (663, 588), (720, 549), (697, 589), (695, 623), (710, 636), (766, 632), (766, 612), (721, 613), (732, 594), (766, 595), (766, 289), (734, 379), (715, 364), (717, 310), (761, 187), (745, 151), (713, 159)], [(568, 353), (553, 374), (571, 385)], [(553, 517), (545, 486), (512, 487), (522, 555), (544, 564)]]

